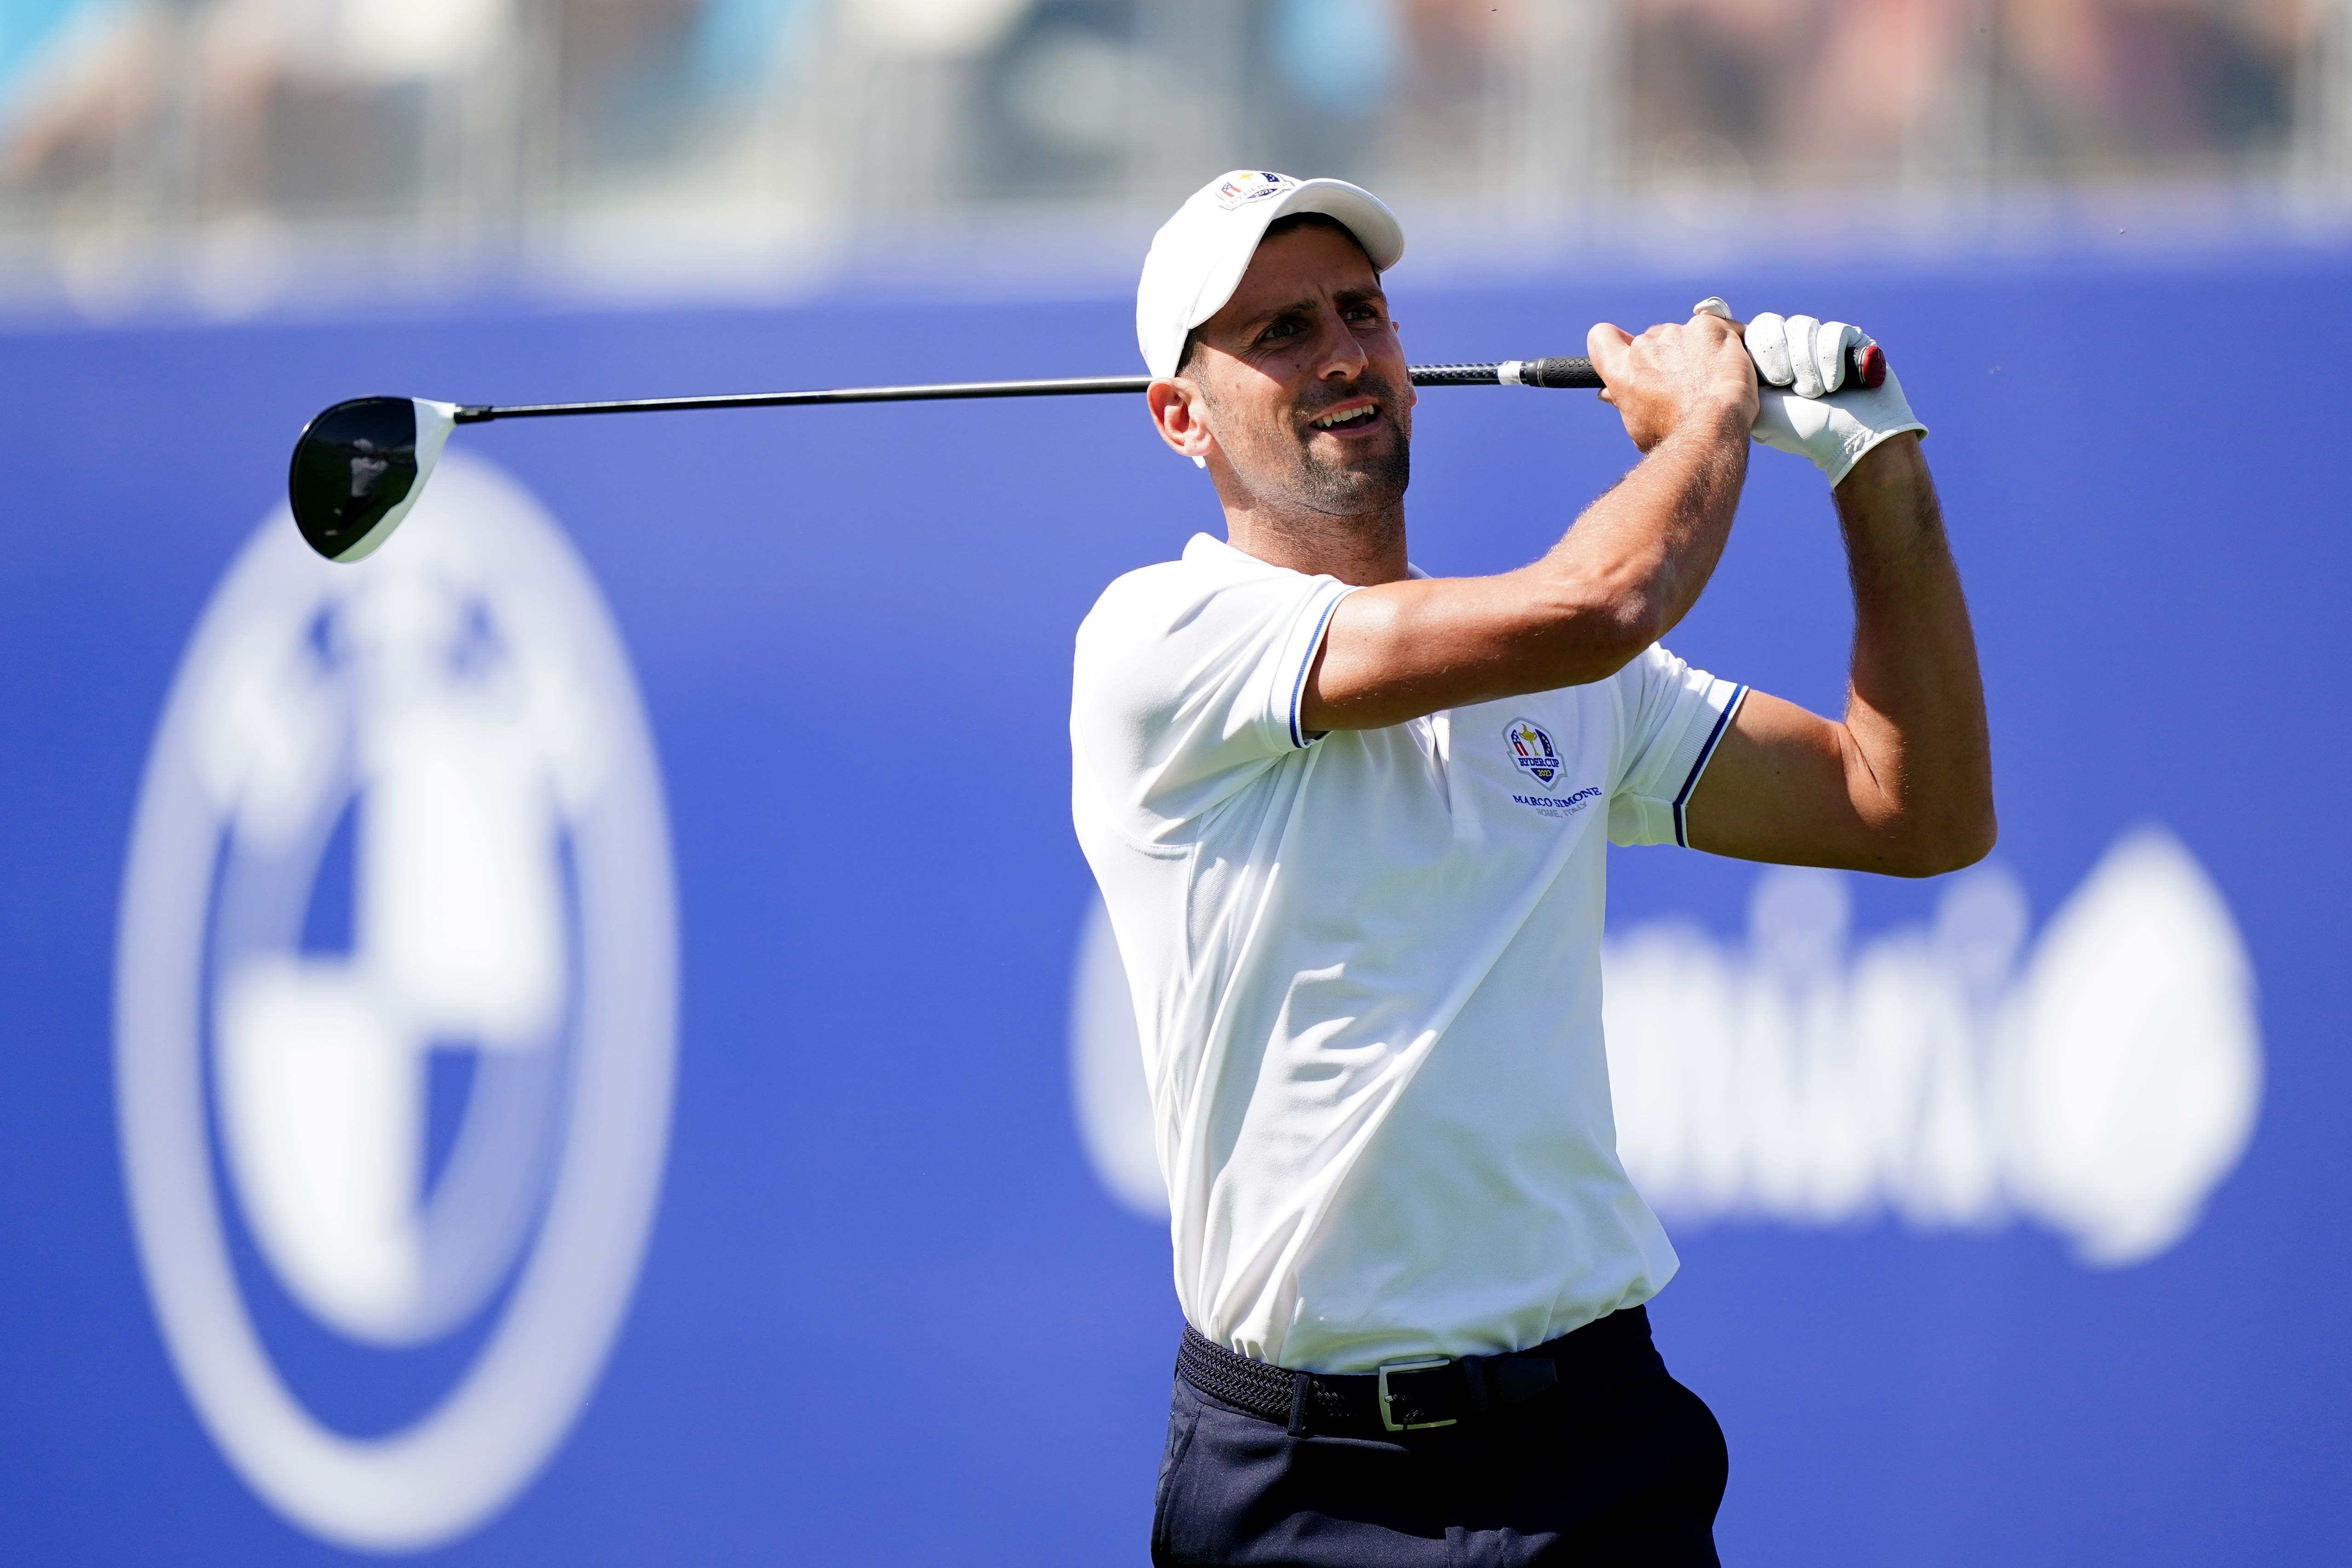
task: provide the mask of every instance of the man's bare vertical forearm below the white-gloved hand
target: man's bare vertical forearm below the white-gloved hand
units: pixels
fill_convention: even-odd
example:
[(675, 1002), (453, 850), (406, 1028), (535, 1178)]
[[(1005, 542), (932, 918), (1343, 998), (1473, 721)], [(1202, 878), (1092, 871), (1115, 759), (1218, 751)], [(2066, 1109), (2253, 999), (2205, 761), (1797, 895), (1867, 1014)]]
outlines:
[(1992, 849), (1992, 745), (1976, 635), (1917, 435), (1896, 435), (1832, 491), (1853, 578), (1846, 733), (1856, 804), (1912, 870)]

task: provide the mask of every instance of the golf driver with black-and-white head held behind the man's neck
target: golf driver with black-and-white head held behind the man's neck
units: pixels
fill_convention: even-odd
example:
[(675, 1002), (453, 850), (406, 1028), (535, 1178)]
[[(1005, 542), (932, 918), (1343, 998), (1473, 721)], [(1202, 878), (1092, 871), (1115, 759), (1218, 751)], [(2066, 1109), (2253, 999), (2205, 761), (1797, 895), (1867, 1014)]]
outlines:
[[(1503, 360), (1498, 364), (1416, 364), (1414, 386), (1597, 388), (1590, 360)], [(1846, 378), (1886, 381), (1886, 357), (1846, 350)], [(619, 402), (534, 402), (515, 407), (433, 402), (428, 397), (353, 397), (339, 402), (294, 442), (287, 496), (294, 527), (332, 562), (374, 555), (416, 505), (449, 433), (492, 418), (564, 414), (661, 414), (682, 409), (793, 409), (826, 402), (936, 402), (953, 397), (1075, 397), (1141, 393), (1150, 376), (1077, 376), (1065, 381), (950, 381), (941, 386), (849, 386), (818, 393), (724, 393), (717, 397), (637, 397)]]

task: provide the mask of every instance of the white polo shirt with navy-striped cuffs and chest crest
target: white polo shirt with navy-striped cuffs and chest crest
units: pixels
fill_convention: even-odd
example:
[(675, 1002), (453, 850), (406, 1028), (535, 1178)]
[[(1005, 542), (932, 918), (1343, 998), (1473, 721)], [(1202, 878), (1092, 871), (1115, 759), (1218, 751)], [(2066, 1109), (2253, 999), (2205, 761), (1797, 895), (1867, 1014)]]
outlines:
[(1176, 1298), (1209, 1340), (1324, 1373), (1526, 1349), (1672, 1276), (1609, 1112), (1604, 842), (1684, 842), (1745, 691), (1653, 646), (1590, 686), (1308, 736), (1348, 592), (1195, 536), (1103, 592), (1070, 698)]

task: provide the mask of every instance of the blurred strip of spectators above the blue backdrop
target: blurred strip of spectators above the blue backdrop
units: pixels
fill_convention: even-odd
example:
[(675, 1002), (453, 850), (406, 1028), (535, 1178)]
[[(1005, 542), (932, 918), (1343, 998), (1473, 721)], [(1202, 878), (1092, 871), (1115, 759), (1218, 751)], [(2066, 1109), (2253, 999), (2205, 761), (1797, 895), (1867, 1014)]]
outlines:
[(2265, 179), (2347, 0), (0, 0), (0, 233)]

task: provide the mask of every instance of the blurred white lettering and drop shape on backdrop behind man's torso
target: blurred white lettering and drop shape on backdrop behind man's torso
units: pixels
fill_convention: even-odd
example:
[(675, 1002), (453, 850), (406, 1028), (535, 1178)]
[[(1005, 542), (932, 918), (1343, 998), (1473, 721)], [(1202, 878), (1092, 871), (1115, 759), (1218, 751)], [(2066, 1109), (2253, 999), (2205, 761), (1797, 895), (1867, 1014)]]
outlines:
[[(1860, 945), (1842, 875), (1773, 867), (1745, 943), (1649, 922), (1602, 969), (1618, 1152), (1677, 1229), (2025, 1218), (2086, 1265), (2143, 1262), (2197, 1222), (2260, 1103), (2244, 940), (2161, 827), (2119, 839), (2032, 945), (1999, 865), (1952, 877), (1926, 926)], [(1082, 1140), (1112, 1197), (1164, 1215), (1101, 903), (1075, 980)]]

